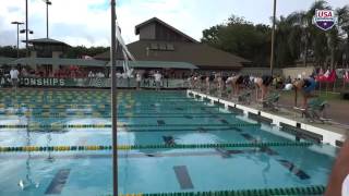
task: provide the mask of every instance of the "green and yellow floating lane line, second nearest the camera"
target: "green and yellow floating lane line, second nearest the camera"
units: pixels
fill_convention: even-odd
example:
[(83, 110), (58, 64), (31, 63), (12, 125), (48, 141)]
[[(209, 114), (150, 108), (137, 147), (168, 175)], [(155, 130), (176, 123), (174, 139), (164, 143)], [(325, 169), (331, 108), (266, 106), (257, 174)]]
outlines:
[[(269, 142), (269, 143), (231, 143), (231, 144), (173, 144), (173, 145), (119, 145), (118, 150), (134, 149), (205, 149), (205, 148), (237, 148), (237, 147), (309, 147), (309, 142)], [(0, 152), (24, 152), (24, 151), (98, 151), (111, 150), (112, 146), (21, 146), (0, 147)]]

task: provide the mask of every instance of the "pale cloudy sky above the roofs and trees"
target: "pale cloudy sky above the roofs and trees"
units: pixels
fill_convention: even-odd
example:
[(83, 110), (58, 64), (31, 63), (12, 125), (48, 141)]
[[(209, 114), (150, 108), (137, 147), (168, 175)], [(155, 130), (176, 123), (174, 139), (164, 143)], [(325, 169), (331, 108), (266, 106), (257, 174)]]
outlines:
[[(110, 0), (51, 0), (49, 37), (71, 46), (110, 45)], [(277, 15), (306, 10), (315, 0), (278, 0)], [(333, 8), (348, 0), (328, 0)], [(273, 0), (117, 0), (117, 17), (127, 44), (136, 41), (134, 26), (154, 16), (196, 40), (203, 29), (224, 23), (231, 14), (253, 23), (270, 24)], [(46, 37), (46, 3), (28, 0), (28, 25), (32, 38)], [(24, 0), (0, 0), (0, 46), (16, 45), (16, 26), (25, 22)], [(25, 26), (23, 26), (24, 28)], [(25, 35), (20, 35), (25, 39)], [(20, 47), (24, 47), (21, 44)]]

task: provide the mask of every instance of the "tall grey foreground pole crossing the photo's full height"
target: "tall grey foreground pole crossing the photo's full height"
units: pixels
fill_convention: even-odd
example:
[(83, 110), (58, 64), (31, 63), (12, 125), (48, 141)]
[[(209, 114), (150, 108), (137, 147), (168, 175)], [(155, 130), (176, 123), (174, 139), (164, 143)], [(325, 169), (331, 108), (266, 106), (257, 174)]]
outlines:
[(111, 135), (112, 135), (112, 193), (118, 196), (118, 128), (117, 128), (117, 37), (116, 37), (116, 0), (110, 1), (111, 5)]

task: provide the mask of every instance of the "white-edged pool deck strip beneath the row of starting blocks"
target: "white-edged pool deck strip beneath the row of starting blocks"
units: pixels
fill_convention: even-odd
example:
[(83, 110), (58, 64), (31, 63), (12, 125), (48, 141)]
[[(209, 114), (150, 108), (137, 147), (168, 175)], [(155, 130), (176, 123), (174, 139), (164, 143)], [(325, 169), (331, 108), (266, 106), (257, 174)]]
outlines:
[(273, 125), (279, 127), (290, 126), (298, 128), (299, 132), (303, 132), (304, 134), (314, 134), (318, 136), (322, 143), (330, 144), (337, 147), (341, 146), (342, 142), (347, 137), (347, 134), (349, 133), (349, 126), (347, 125), (342, 125), (333, 121), (325, 123), (309, 122), (301, 117), (300, 112), (286, 108), (279, 108), (278, 111), (270, 111), (264, 109), (258, 103), (252, 102), (251, 105), (241, 105), (226, 98), (218, 98), (195, 90), (186, 90), (186, 95), (192, 95), (198, 99), (207, 99), (212, 103), (219, 103), (225, 106), (227, 109), (240, 110), (245, 115), (261, 118), (264, 121), (269, 121)]

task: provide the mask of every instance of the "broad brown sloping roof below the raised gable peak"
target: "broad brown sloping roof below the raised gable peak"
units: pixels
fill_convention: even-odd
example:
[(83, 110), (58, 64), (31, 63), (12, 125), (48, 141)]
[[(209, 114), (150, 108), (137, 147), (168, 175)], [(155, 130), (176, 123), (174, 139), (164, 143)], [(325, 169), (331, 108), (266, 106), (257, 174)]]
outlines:
[[(173, 48), (172, 50), (152, 50), (152, 45), (171, 45)], [(243, 63), (250, 63), (249, 60), (204, 44), (139, 40), (128, 45), (128, 48), (139, 61), (189, 62), (196, 66), (213, 69), (241, 69)], [(109, 51), (95, 56), (100, 60), (109, 60)]]

